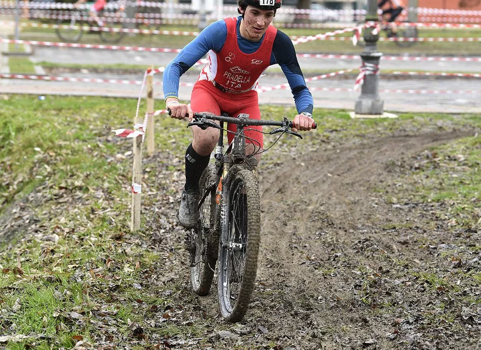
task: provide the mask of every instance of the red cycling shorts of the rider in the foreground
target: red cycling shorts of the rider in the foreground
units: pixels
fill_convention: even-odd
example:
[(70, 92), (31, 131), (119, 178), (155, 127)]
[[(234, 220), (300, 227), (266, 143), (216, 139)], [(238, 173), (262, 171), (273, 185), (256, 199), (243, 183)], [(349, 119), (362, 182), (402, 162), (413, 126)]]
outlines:
[[(237, 118), (240, 113), (249, 114), (249, 119), (260, 119), (259, 98), (257, 91), (242, 93), (222, 92), (207, 80), (195, 83), (190, 98), (190, 107), (194, 112), (209, 112), (220, 115), (221, 112)], [(227, 124), (227, 130), (236, 131), (237, 125)], [(245, 142), (264, 148), (262, 126), (249, 126), (244, 128)], [(234, 134), (228, 132), (229, 144), (234, 140)]]

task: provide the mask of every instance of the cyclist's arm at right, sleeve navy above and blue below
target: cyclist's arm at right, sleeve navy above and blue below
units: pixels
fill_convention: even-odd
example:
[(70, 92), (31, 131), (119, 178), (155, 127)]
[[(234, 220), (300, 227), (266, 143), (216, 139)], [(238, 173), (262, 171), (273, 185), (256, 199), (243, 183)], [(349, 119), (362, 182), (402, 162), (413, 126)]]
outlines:
[(272, 55), (271, 64), (277, 63), (287, 77), (292, 95), (294, 96), (297, 112), (312, 114), (314, 101), (311, 92), (306, 86), (299, 62), (297, 62), (296, 50), (289, 36), (280, 30), (277, 31), (274, 40)]

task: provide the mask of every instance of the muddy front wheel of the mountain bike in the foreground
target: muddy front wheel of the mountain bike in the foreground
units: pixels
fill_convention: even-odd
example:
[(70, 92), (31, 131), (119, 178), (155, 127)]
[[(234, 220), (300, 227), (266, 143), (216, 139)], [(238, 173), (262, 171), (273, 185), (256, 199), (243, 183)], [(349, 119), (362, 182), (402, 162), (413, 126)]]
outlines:
[(225, 196), (219, 242), (219, 304), (226, 321), (238, 322), (247, 312), (257, 274), (260, 200), (254, 173), (238, 171)]

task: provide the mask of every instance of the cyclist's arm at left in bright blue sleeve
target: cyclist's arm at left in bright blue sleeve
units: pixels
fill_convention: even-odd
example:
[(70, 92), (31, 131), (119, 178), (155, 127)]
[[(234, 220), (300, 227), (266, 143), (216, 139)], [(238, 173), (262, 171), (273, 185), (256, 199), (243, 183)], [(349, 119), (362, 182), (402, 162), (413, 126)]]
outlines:
[(195, 62), (209, 51), (219, 52), (227, 37), (225, 21), (217, 21), (205, 28), (199, 36), (187, 44), (182, 51), (165, 68), (163, 75), (165, 98), (179, 97), (179, 80)]

